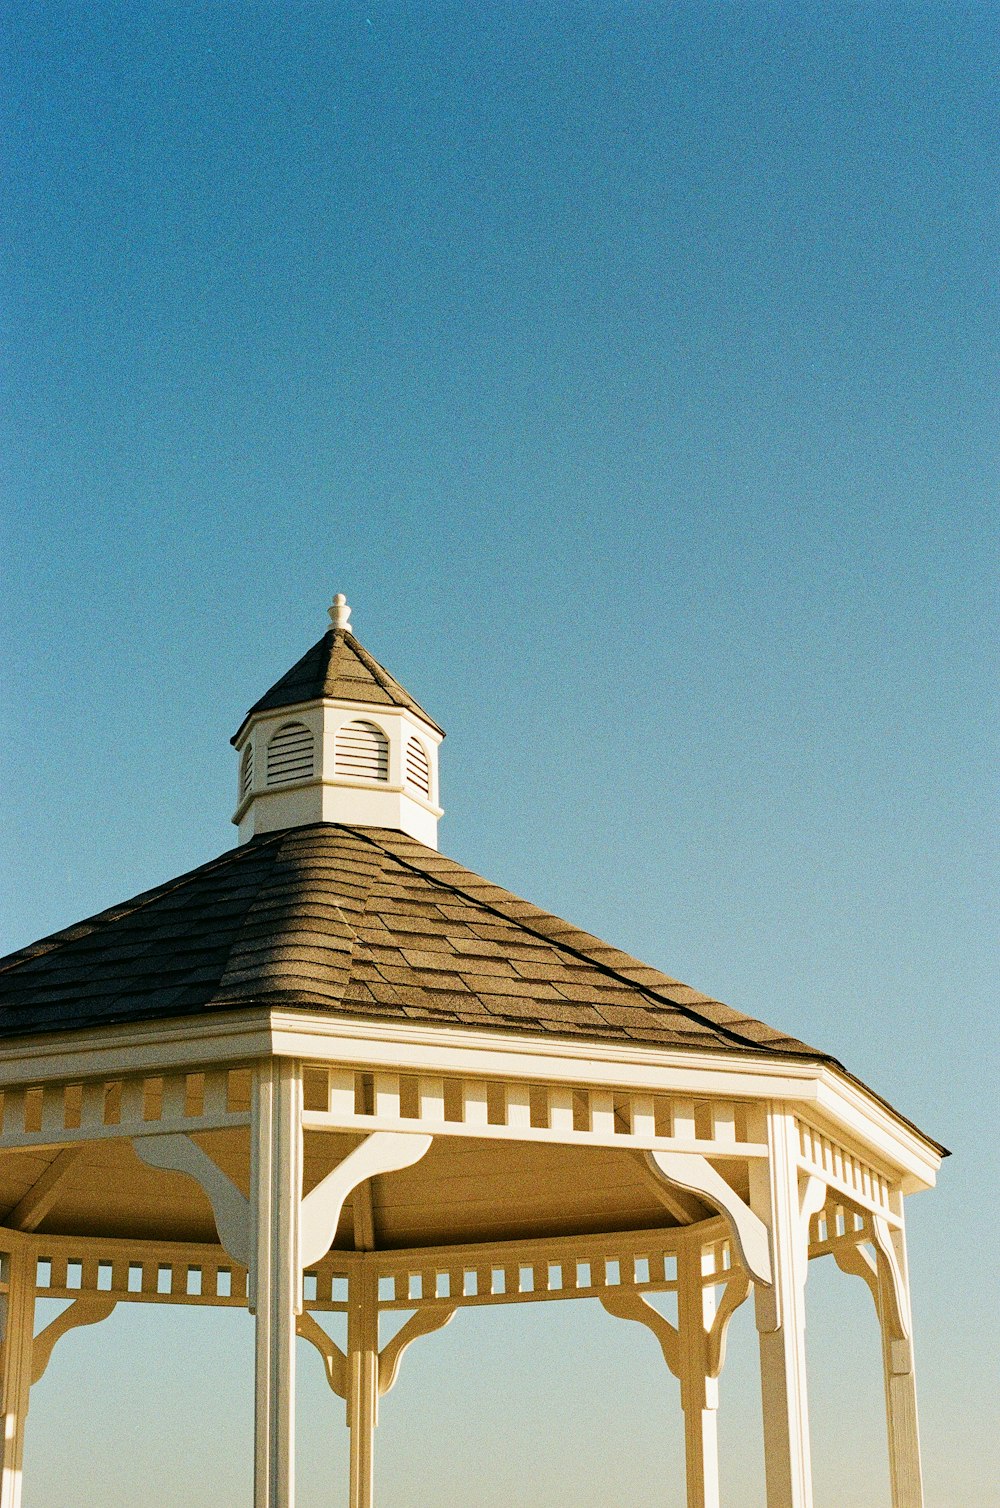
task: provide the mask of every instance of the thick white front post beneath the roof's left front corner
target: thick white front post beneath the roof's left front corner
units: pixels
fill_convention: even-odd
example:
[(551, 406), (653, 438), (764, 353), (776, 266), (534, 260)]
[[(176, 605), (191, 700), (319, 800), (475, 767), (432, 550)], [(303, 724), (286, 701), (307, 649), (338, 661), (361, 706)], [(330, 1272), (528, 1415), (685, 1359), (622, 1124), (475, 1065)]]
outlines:
[(294, 1508), (296, 1315), (302, 1309), (302, 1074), (255, 1075), (250, 1137), (250, 1306), (256, 1315), (253, 1508)]

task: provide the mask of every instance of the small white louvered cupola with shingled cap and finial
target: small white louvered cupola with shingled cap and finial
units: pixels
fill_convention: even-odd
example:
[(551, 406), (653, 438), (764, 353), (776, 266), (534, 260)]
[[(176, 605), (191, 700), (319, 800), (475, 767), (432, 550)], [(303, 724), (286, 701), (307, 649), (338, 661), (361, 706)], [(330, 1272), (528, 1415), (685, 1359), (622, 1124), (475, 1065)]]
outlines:
[(357, 642), (350, 614), (338, 593), (327, 632), (250, 707), (232, 739), (241, 843), (339, 822), (437, 847), (443, 730)]

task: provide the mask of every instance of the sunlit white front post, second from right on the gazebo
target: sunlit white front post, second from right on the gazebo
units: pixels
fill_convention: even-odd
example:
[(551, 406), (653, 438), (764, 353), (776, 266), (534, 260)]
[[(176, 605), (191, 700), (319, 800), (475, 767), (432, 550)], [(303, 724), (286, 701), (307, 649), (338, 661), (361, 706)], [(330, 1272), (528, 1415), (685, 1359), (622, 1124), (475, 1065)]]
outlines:
[(750, 1203), (771, 1229), (774, 1282), (754, 1285), (768, 1508), (811, 1508), (805, 1396), (805, 1271), (795, 1117), (769, 1105), (768, 1158), (750, 1164)]

